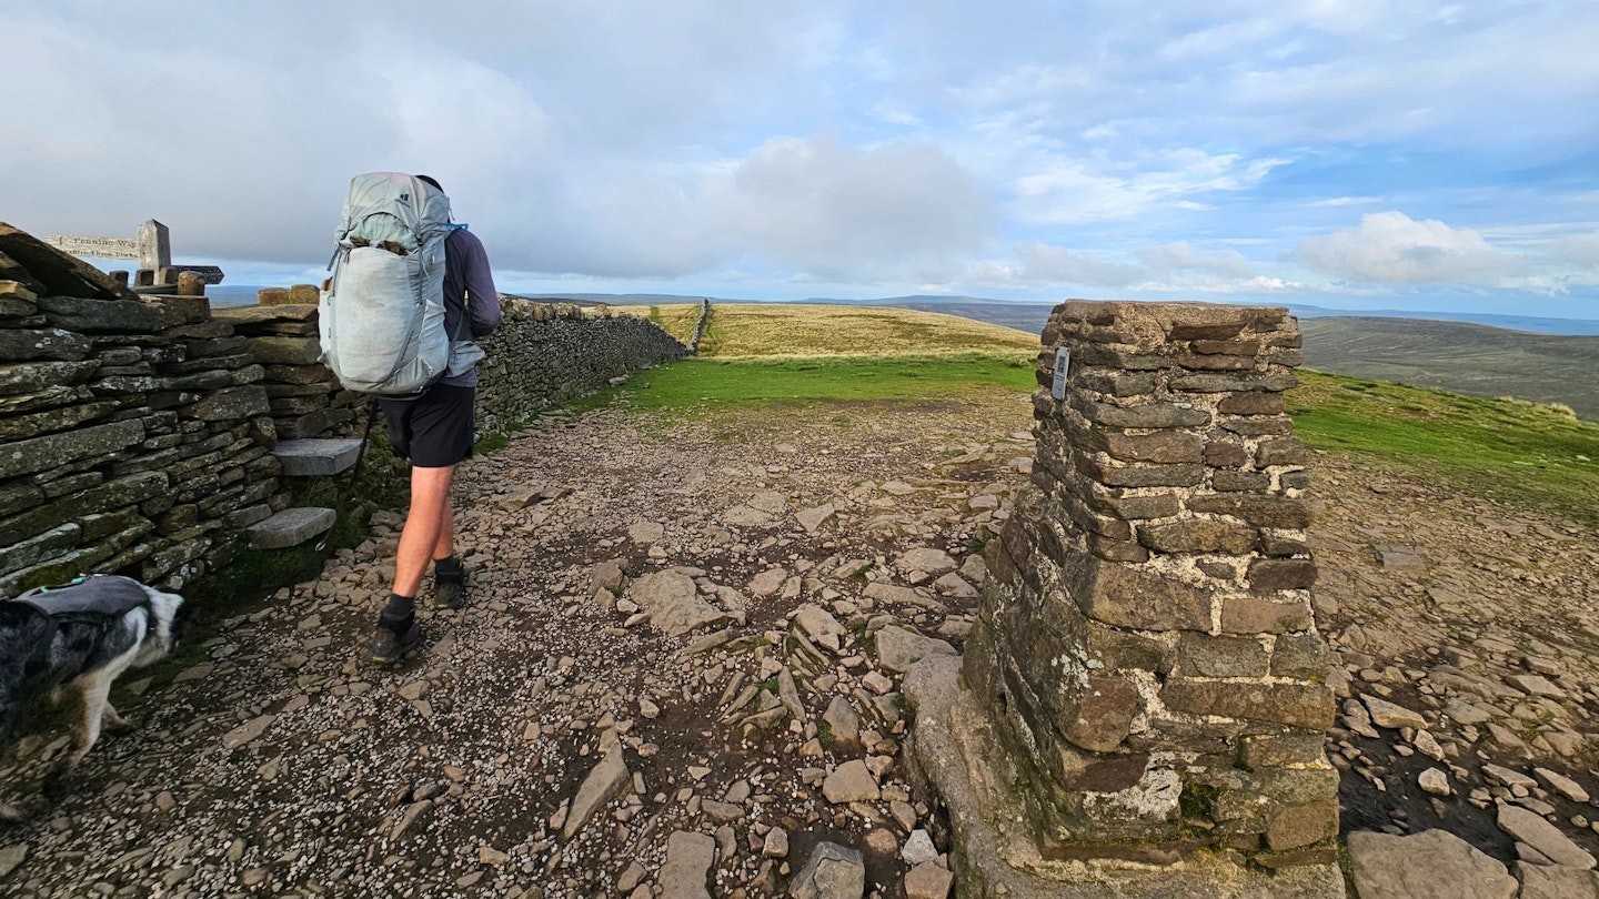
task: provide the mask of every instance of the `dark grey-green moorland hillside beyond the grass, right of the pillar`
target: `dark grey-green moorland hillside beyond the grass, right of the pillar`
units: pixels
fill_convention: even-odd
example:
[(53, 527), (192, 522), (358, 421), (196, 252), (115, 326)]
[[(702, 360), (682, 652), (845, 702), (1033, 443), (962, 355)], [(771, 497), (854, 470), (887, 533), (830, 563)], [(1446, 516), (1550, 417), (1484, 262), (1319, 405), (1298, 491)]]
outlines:
[(1474, 397), (1564, 403), (1599, 419), (1599, 338), (1418, 318), (1302, 318), (1305, 365)]

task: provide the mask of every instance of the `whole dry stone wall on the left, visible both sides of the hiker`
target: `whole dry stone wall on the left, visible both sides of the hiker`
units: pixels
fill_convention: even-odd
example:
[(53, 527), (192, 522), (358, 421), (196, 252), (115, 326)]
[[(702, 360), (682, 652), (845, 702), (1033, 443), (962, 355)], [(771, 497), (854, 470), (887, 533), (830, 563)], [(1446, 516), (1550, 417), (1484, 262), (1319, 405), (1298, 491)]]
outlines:
[[(317, 362), (317, 306), (283, 302), (313, 293), (283, 293), (138, 296), (0, 224), (0, 595), (112, 571), (181, 589), (293, 504), (277, 442), (353, 435), (365, 400)], [(504, 306), (484, 432), (688, 354), (638, 317)]]

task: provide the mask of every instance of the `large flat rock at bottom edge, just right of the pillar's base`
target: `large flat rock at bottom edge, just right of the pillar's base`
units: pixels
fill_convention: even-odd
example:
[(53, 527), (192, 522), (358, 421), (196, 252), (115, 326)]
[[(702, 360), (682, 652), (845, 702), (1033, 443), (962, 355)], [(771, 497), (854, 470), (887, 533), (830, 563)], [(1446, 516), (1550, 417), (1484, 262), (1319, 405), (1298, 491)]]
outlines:
[(1350, 867), (1361, 899), (1511, 899), (1503, 864), (1447, 830), (1393, 837), (1350, 833)]

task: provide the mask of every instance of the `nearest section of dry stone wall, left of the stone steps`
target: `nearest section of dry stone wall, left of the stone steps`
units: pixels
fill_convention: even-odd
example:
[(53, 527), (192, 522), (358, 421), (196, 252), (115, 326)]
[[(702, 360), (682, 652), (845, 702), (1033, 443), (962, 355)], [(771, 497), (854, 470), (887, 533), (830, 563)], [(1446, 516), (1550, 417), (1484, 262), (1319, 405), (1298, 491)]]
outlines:
[(243, 342), (203, 296), (136, 298), (0, 224), (0, 595), (181, 587), (288, 505)]

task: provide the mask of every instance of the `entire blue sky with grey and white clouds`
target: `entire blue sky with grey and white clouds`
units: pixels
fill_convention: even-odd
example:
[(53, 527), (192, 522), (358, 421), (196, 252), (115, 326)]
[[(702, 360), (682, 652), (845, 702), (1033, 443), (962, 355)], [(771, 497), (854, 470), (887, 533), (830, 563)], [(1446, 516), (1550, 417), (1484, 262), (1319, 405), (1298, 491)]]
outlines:
[(500, 290), (1599, 318), (1599, 3), (0, 0), (0, 221), (315, 282), (435, 176)]

